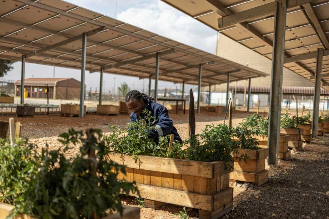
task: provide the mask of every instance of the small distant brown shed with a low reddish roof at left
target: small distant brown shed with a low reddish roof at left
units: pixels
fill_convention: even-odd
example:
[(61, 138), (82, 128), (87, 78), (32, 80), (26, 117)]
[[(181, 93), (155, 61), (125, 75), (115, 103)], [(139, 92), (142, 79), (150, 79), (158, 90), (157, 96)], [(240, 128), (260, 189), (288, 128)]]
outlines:
[[(49, 99), (79, 99), (80, 81), (74, 78), (25, 78), (24, 91), (29, 98), (47, 98), (46, 88), (49, 87)], [(21, 80), (15, 81), (15, 96), (21, 92)], [(55, 95), (54, 95), (55, 94)]]

